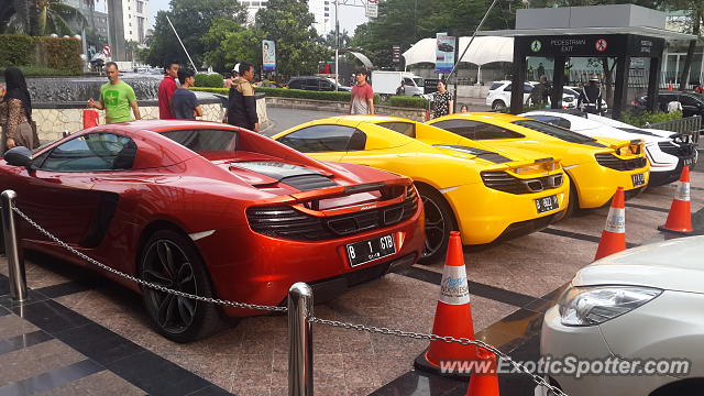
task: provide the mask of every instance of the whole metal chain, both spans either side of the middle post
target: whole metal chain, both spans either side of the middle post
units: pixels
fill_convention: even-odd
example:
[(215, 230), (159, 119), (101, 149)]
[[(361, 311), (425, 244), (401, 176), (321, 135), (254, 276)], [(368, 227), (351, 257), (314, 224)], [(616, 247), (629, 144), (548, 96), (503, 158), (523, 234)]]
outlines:
[[(42, 234), (46, 235), (48, 239), (51, 239), (52, 241), (56, 242), (59, 246), (66, 249), (67, 251), (76, 254), (77, 256), (84, 258), (85, 261), (89, 262), (90, 264), (94, 264), (96, 266), (98, 266), (101, 270), (105, 270), (107, 272), (110, 272), (114, 275), (121, 276), (123, 278), (127, 278), (131, 282), (134, 282), (139, 285), (142, 285), (144, 287), (148, 287), (148, 288), (153, 288), (163, 293), (168, 293), (168, 294), (173, 294), (175, 296), (178, 297), (183, 297), (183, 298), (190, 298), (190, 299), (195, 299), (198, 301), (202, 301), (202, 302), (210, 302), (210, 304), (217, 304), (217, 305), (221, 305), (221, 306), (229, 306), (229, 307), (235, 307), (235, 308), (246, 308), (246, 309), (256, 309), (256, 310), (267, 310), (267, 311), (275, 311), (275, 312), (285, 312), (288, 311), (287, 307), (275, 307), (275, 306), (262, 306), (262, 305), (256, 305), (256, 304), (245, 304), (245, 302), (234, 302), (234, 301), (228, 301), (228, 300), (221, 300), (221, 299), (217, 299), (217, 298), (208, 298), (208, 297), (201, 297), (201, 296), (197, 296), (197, 295), (193, 295), (193, 294), (188, 294), (188, 293), (184, 293), (184, 292), (179, 292), (179, 290), (174, 290), (174, 289), (169, 289), (167, 287), (161, 286), (161, 285), (156, 285), (143, 279), (140, 279), (135, 276), (132, 275), (128, 275), (124, 274), (118, 270), (114, 270), (108, 265), (105, 265), (89, 256), (87, 256), (86, 254), (75, 250), (74, 248), (69, 246), (66, 242), (59, 240), (58, 238), (56, 238), (54, 234), (52, 234), (51, 232), (46, 231), (44, 228), (42, 228), (40, 224), (37, 224), (34, 220), (30, 219), (29, 216), (26, 216), (24, 212), (22, 212), (20, 209), (18, 209), (16, 207), (12, 207), (12, 210), (18, 213), (22, 219), (24, 219), (24, 221), (26, 221), (28, 223), (30, 223), (32, 227), (34, 227), (36, 230), (38, 230)], [(503, 360), (508, 361), (516, 370), (518, 370), (521, 373), (528, 374), (531, 380), (540, 386), (543, 386), (548, 389), (550, 389), (554, 395), (557, 396), (568, 396), (565, 393), (563, 393), (560, 388), (550, 385), (543, 377), (532, 374), (528, 369), (526, 369), (522, 364), (514, 361), (509, 355), (505, 354), (504, 352), (499, 351), (498, 349), (496, 349), (495, 346), (487, 344), (484, 341), (481, 340), (470, 340), (466, 338), (460, 338), (460, 339), (455, 339), (453, 337), (450, 336), (437, 336), (437, 334), (427, 334), (427, 333), (419, 333), (419, 332), (413, 332), (413, 331), (404, 331), (404, 330), (398, 330), (398, 329), (389, 329), (389, 328), (384, 328), (384, 327), (376, 327), (376, 326), (366, 326), (366, 324), (354, 324), (354, 323), (346, 323), (346, 322), (341, 322), (341, 321), (337, 321), (337, 320), (328, 320), (328, 319), (320, 319), (320, 318), (316, 318), (314, 316), (310, 316), (308, 318), (310, 323), (318, 323), (318, 324), (326, 324), (326, 326), (330, 326), (330, 327), (337, 327), (337, 328), (342, 328), (342, 329), (349, 329), (349, 330), (358, 330), (358, 331), (367, 331), (370, 333), (378, 333), (378, 334), (386, 334), (386, 336), (396, 336), (396, 337), (400, 337), (400, 338), (411, 338), (411, 339), (416, 339), (416, 340), (428, 340), (428, 341), (442, 341), (442, 342), (457, 342), (459, 344), (462, 345), (476, 345), (479, 348), (482, 348), (486, 351), (490, 351), (492, 353), (494, 353), (496, 356), (499, 356)]]

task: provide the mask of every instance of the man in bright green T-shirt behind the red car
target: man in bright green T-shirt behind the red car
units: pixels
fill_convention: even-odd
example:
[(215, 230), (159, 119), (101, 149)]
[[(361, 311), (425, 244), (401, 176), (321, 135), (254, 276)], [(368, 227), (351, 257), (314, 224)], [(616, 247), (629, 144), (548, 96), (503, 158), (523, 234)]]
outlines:
[(130, 108), (136, 120), (141, 120), (140, 108), (136, 103), (134, 90), (127, 82), (120, 80), (120, 70), (118, 64), (108, 62), (106, 64), (106, 74), (110, 82), (100, 87), (100, 102), (96, 102), (90, 98), (88, 107), (98, 110), (106, 110), (106, 123), (132, 121), (130, 117)]

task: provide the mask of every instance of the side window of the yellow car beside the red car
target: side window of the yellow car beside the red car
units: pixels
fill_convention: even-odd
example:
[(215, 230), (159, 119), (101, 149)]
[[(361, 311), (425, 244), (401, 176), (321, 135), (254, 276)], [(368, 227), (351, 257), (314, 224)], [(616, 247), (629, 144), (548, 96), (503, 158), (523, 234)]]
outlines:
[(344, 125), (312, 125), (289, 133), (278, 142), (301, 153), (345, 152), (364, 150), (366, 135)]

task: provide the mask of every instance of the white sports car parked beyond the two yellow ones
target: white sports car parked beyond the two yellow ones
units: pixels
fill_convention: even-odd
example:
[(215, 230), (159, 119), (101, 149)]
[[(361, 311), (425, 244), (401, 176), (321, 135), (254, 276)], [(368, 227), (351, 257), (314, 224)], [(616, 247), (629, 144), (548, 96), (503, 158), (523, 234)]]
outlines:
[[(648, 131), (580, 110), (536, 110), (520, 114), (592, 136), (625, 141), (644, 140), (650, 162), (650, 186), (662, 186), (680, 178), (684, 165), (694, 165), (697, 151), (678, 134), (668, 131)], [(614, 125), (614, 127), (612, 127)], [(626, 127), (624, 127), (626, 125)]]

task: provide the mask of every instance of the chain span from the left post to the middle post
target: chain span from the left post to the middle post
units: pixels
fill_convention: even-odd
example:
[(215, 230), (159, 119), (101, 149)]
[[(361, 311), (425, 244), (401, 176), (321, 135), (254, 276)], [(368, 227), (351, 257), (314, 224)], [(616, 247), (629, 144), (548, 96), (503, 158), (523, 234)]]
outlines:
[(202, 301), (202, 302), (210, 302), (210, 304), (217, 304), (217, 305), (221, 305), (221, 306), (228, 306), (228, 307), (235, 307), (235, 308), (248, 308), (248, 309), (257, 309), (257, 310), (266, 310), (266, 311), (274, 311), (274, 312), (286, 312), (288, 310), (288, 308), (286, 307), (275, 307), (275, 306), (262, 306), (262, 305), (256, 305), (256, 304), (245, 304), (245, 302), (234, 302), (234, 301), (227, 301), (227, 300), (221, 300), (221, 299), (217, 299), (217, 298), (208, 298), (208, 297), (201, 297), (201, 296), (196, 296), (189, 293), (184, 293), (184, 292), (179, 292), (179, 290), (174, 290), (174, 289), (169, 289), (168, 287), (164, 287), (161, 285), (156, 285), (143, 279), (140, 279), (136, 276), (132, 276), (132, 275), (128, 275), (125, 273), (122, 273), (118, 270), (114, 270), (108, 265), (105, 265), (94, 258), (90, 258), (89, 256), (85, 255), (84, 253), (75, 250), (74, 248), (69, 246), (66, 242), (59, 240), (58, 238), (56, 238), (54, 234), (52, 234), (51, 232), (46, 231), (44, 228), (42, 228), (42, 226), (37, 224), (36, 222), (34, 222), (34, 220), (30, 219), (29, 216), (24, 215), (24, 212), (22, 212), (20, 209), (18, 209), (16, 207), (12, 207), (12, 210), (14, 210), (15, 213), (18, 213), (22, 219), (24, 219), (24, 221), (26, 221), (28, 223), (30, 223), (32, 227), (34, 227), (35, 229), (37, 229), (41, 233), (43, 233), (44, 235), (46, 235), (48, 239), (51, 239), (52, 241), (56, 242), (58, 245), (61, 245), (62, 248), (66, 249), (67, 251), (74, 253), (75, 255), (81, 257), (82, 260), (89, 262), (90, 264), (94, 264), (105, 271), (108, 271), (112, 274), (116, 274), (118, 276), (121, 276), (125, 279), (130, 279), (139, 285), (142, 285), (144, 287), (148, 287), (148, 288), (153, 288), (155, 290), (160, 290), (160, 292), (164, 292), (164, 293), (168, 293), (168, 294), (173, 294), (175, 296), (178, 297), (183, 297), (183, 298), (190, 298), (190, 299), (195, 299), (197, 301)]

